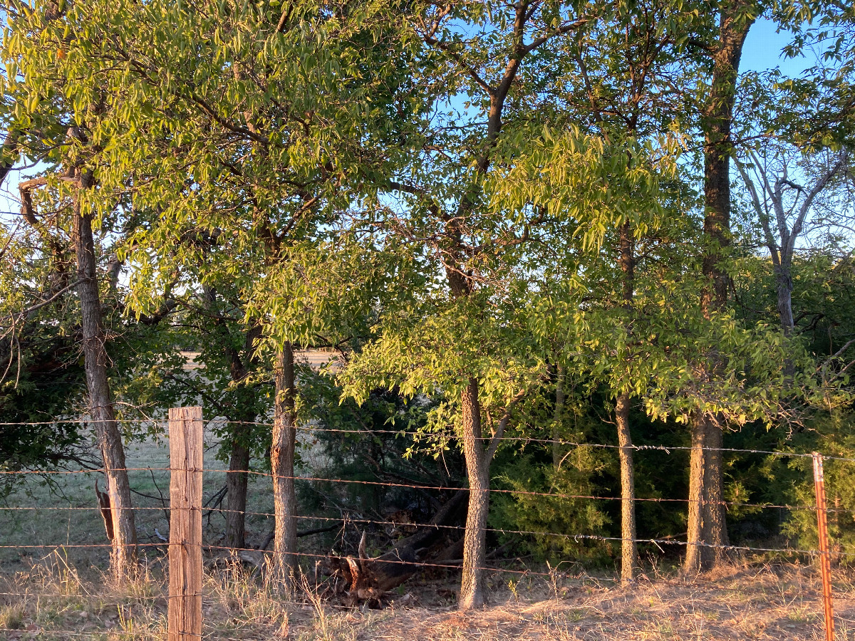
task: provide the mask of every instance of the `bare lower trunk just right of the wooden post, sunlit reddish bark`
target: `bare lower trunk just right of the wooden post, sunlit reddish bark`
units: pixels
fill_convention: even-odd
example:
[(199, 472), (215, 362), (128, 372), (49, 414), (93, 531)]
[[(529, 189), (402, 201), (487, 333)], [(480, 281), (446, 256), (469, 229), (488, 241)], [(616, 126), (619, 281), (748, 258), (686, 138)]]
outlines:
[(297, 417), (294, 411), (294, 350), (286, 343), (276, 355), (276, 399), (270, 467), (273, 471), (275, 513), (274, 562), (286, 585), (294, 585), (297, 563), (297, 495), (294, 491), (294, 447)]

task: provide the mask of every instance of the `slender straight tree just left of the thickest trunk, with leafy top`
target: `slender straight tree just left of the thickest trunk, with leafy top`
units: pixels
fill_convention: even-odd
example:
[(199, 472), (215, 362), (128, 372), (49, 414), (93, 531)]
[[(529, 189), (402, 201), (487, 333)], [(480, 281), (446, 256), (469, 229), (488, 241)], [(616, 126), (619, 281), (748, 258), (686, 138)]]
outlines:
[[(554, 89), (549, 91), (563, 110), (556, 109), (557, 113), (551, 115), (552, 119), (578, 122), (589, 131), (598, 132), (612, 144), (626, 144), (630, 161), (636, 152), (648, 153), (643, 148), (633, 149), (637, 141), (648, 140), (652, 144), (662, 144), (661, 133), (667, 131), (669, 121), (679, 117), (669, 94), (684, 82), (673, 74), (672, 68), (680, 60), (681, 75), (690, 75), (687, 74), (690, 63), (687, 62), (682, 40), (685, 32), (695, 27), (695, 21), (696, 16), (685, 11), (681, 5), (667, 0), (653, 0), (616, 12), (610, 21), (601, 21), (584, 37), (557, 44), (557, 53), (563, 54), (563, 64), (554, 64), (546, 73), (556, 76), (551, 78)], [(562, 61), (562, 58), (557, 58), (558, 61)], [(533, 81), (542, 82), (541, 79)], [(671, 149), (668, 146), (666, 142), (661, 150), (650, 153), (674, 154), (673, 146)], [(642, 239), (642, 229), (651, 223), (654, 227), (660, 224), (656, 219), (663, 212), (655, 209), (651, 214), (641, 220), (640, 226), (635, 226), (634, 222), (639, 220), (641, 213), (624, 221), (616, 238), (609, 238), (608, 241), (616, 246), (616, 266), (621, 273), (621, 283), (618, 285), (622, 290), (619, 295), (622, 299), (620, 305), (625, 312), (624, 322), (629, 333), (633, 333), (632, 327), (637, 322), (634, 312), (636, 268), (644, 267), (638, 265), (636, 244)], [(670, 212), (670, 215), (682, 214)], [(657, 229), (647, 233), (651, 232), (655, 237)], [(649, 252), (643, 252), (642, 256), (645, 254), (649, 255)], [(586, 274), (589, 269), (586, 269)], [(593, 284), (598, 279), (609, 278), (600, 270), (593, 270), (593, 274), (590, 279)], [(606, 295), (598, 297), (592, 307), (598, 306), (600, 302), (615, 304), (614, 297)], [(605, 311), (606, 315), (609, 313)], [(628, 340), (632, 338), (628, 337)], [(628, 359), (631, 362), (637, 357), (633, 354)], [(558, 367), (564, 368), (563, 363)], [(631, 365), (623, 363), (616, 363), (615, 368), (625, 370), (627, 377), (632, 369)], [(621, 445), (621, 576), (622, 581), (627, 583), (634, 579), (634, 568), (638, 562), (629, 411), (633, 397), (631, 390), (639, 385), (628, 378), (622, 379), (620, 374), (616, 374), (613, 379), (616, 380), (613, 388), (616, 393), (615, 425)]]

